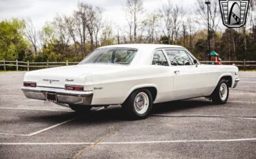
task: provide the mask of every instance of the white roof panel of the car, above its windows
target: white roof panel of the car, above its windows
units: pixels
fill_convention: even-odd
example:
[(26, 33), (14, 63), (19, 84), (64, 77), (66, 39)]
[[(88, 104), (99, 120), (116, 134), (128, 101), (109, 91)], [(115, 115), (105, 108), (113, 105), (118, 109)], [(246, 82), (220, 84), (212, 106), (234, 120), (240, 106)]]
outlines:
[(176, 45), (165, 45), (165, 44), (119, 44), (119, 45), (110, 45), (110, 46), (103, 46), (100, 48), (147, 48), (150, 50), (154, 50), (157, 48), (184, 48), (183, 46), (176, 46)]

